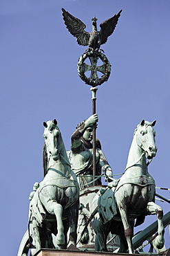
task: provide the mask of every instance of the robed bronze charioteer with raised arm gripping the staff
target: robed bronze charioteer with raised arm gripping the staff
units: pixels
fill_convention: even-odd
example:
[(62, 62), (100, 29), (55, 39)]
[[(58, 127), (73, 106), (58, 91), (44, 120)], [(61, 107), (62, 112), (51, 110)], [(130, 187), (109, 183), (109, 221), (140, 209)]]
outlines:
[(84, 120), (76, 127), (72, 134), (72, 147), (67, 152), (73, 172), (76, 174), (80, 188), (88, 188), (93, 185), (93, 179), (96, 179), (96, 185), (101, 185), (101, 171), (105, 174), (106, 181), (112, 181), (112, 170), (103, 153), (100, 141), (96, 139), (96, 177), (93, 177), (93, 125), (98, 121), (98, 115), (94, 115)]

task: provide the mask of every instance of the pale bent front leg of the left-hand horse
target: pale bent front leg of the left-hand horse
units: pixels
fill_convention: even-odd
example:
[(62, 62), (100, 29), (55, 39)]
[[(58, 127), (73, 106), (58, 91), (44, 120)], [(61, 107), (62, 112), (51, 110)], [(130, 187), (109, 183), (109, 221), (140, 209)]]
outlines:
[(63, 215), (63, 207), (61, 204), (57, 203), (56, 200), (47, 201), (47, 205), (45, 206), (48, 212), (51, 214), (55, 214), (56, 223), (57, 223), (57, 235), (56, 235), (56, 244), (61, 248), (65, 247), (65, 235), (64, 235), (64, 227), (62, 221)]

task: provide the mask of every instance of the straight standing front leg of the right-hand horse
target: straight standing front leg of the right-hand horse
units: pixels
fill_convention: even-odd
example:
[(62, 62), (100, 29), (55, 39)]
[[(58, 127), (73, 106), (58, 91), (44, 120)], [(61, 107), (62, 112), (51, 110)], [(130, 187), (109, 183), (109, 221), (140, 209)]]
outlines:
[(129, 214), (127, 212), (127, 206), (122, 203), (118, 208), (119, 208), (121, 219), (123, 221), (123, 227), (125, 229), (125, 237), (127, 239), (129, 253), (134, 253), (134, 249), (132, 246), (132, 237), (134, 235), (134, 228), (131, 227)]

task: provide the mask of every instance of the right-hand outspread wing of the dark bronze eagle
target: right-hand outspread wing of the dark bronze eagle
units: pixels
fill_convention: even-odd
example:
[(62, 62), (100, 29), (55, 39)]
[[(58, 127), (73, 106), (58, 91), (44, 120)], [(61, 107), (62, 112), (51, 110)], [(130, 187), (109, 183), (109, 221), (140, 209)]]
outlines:
[(111, 35), (114, 32), (114, 29), (116, 28), (116, 24), (118, 23), (118, 18), (120, 17), (120, 12), (118, 12), (117, 15), (114, 15), (110, 19), (107, 19), (106, 21), (103, 21), (100, 24), (100, 38), (101, 38), (101, 44), (105, 44), (107, 42), (107, 37)]

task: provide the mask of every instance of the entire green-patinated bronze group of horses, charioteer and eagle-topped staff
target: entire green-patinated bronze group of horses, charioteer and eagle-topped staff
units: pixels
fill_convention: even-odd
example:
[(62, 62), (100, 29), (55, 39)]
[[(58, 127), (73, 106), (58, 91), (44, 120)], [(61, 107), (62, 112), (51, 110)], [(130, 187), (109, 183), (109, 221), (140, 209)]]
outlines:
[[(94, 16), (91, 33), (85, 31), (86, 26), (80, 19), (63, 8), (62, 11), (65, 25), (76, 37), (76, 42), (81, 46), (88, 46), (78, 59), (77, 71), (81, 80), (92, 86), (92, 116), (76, 127), (72, 134), (72, 147), (68, 152), (65, 151), (56, 120), (43, 123), (45, 177), (41, 183), (34, 183), (30, 193), (28, 230), (21, 241), (18, 256), (28, 255), (30, 248), (32, 256), (42, 247), (67, 248), (67, 235), (69, 243), (77, 247), (80, 244), (84, 246), (94, 243), (94, 232), (96, 250), (107, 251), (108, 237), (110, 236), (111, 241), (119, 235), (117, 251), (134, 253), (134, 249), (139, 250), (138, 246), (141, 247), (147, 236), (153, 235), (156, 230), (158, 235), (153, 237), (152, 242), (159, 252), (160, 248), (164, 248), (164, 221), (169, 223), (169, 213), (163, 218), (162, 208), (154, 202), (155, 181), (147, 170), (147, 158), (152, 159), (157, 151), (155, 131), (152, 128), (156, 121), (142, 120), (138, 125), (125, 173), (119, 180), (112, 178), (111, 167), (101, 149), (100, 141), (96, 140), (96, 87), (106, 82), (111, 73), (111, 64), (106, 55), (101, 53), (103, 50), (100, 46), (114, 32), (122, 10), (103, 21), (100, 30), (97, 30), (97, 19)], [(87, 60), (90, 64), (86, 63)], [(100, 66), (99, 60), (103, 62)], [(101, 185), (101, 171), (105, 181), (110, 182), (107, 188)], [(138, 226), (147, 214), (156, 214), (158, 228), (153, 223), (150, 231), (143, 230), (132, 240), (134, 220), (136, 219)], [(89, 221), (92, 221), (90, 228)]]

